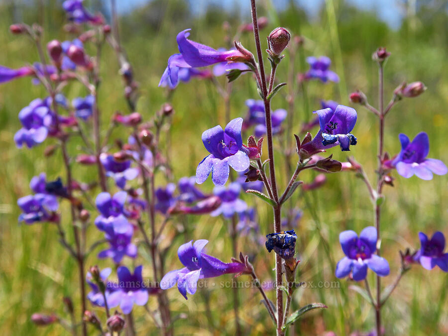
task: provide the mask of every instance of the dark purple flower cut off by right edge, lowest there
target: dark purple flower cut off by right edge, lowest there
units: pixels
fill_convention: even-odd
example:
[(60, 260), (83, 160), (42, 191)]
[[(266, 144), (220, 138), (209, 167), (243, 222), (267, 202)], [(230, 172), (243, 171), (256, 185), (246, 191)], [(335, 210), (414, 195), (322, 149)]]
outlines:
[(444, 272), (448, 272), (448, 253), (444, 253), (444, 234), (441, 231), (437, 231), (431, 239), (428, 239), (425, 233), (419, 232), (419, 238), (422, 247), (417, 251), (414, 260), (420, 262), (428, 270), (433, 269), (437, 265)]

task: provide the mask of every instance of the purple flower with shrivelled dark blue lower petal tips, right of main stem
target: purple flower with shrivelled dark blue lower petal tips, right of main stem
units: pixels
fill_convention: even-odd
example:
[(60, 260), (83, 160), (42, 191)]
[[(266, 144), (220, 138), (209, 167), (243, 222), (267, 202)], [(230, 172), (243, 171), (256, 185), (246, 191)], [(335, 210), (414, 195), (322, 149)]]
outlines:
[(312, 141), (301, 147), (301, 151), (311, 156), (337, 144), (342, 151), (348, 151), (350, 145), (356, 145), (357, 139), (350, 133), (357, 119), (354, 109), (338, 105), (336, 110), (327, 108), (313, 113), (318, 114), (321, 129)]

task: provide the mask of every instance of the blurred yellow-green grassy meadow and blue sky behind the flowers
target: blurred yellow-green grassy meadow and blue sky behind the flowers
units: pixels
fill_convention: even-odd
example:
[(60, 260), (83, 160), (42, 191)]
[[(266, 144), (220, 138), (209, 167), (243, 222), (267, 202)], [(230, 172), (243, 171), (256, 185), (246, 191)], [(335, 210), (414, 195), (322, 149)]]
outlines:
[[(196, 166), (205, 156), (201, 142), (202, 131), (216, 124), (224, 125), (224, 105), (210, 81), (193, 79), (180, 83), (175, 92), (168, 95), (158, 88), (160, 76), (168, 57), (177, 52), (176, 34), (192, 28), (190, 38), (212, 47), (225, 47), (224, 22), (229, 24), (233, 36), (242, 23), (250, 22), (249, 0), (117, 0), (121, 43), (127, 52), (140, 84), (141, 98), (137, 112), (149, 119), (160, 106), (170, 101), (175, 109), (173, 124), (167, 136), (173, 161), (175, 179), (194, 175)], [(398, 134), (406, 133), (413, 138), (426, 131), (430, 136), (429, 157), (448, 163), (447, 104), (448, 104), (448, 1), (444, 0), (260, 0), (259, 15), (268, 18), (268, 25), (261, 30), (264, 36), (282, 25), (293, 36), (305, 39), (303, 53), (297, 55), (294, 74), (290, 76), (289, 54), (279, 66), (280, 82), (296, 78), (296, 73), (307, 70), (305, 56), (326, 55), (333, 60), (332, 70), (340, 77), (339, 84), (309, 82), (307, 87), (308, 111), (303, 92), (294, 86), (294, 131), (299, 132), (312, 111), (320, 109), (320, 101), (334, 100), (350, 105), (348, 94), (362, 90), (371, 105), (377, 106), (377, 66), (371, 60), (373, 51), (380, 46), (392, 53), (385, 67), (385, 100), (392, 97), (393, 90), (403, 81), (422, 81), (428, 90), (420, 97), (399, 102), (387, 118), (385, 148), (393, 154), (400, 150)], [(13, 36), (8, 26), (16, 22), (37, 22), (44, 27), (44, 41), (73, 39), (63, 30), (66, 15), (58, 0), (0, 0), (0, 64), (16, 68), (37, 60), (35, 49), (25, 37)], [(110, 22), (111, 7), (107, 0), (86, 0), (91, 11), (101, 11)], [(243, 45), (255, 51), (251, 33), (242, 34)], [(263, 45), (265, 49), (267, 46)], [(87, 47), (89, 50), (89, 47)], [(103, 83), (99, 93), (102, 121), (108, 124), (115, 111), (127, 111), (123, 99), (123, 85), (118, 64), (109, 46), (104, 50), (102, 65)], [(223, 85), (225, 78), (218, 79)], [(291, 83), (288, 83), (290, 85)], [(246, 99), (258, 99), (254, 81), (241, 76), (233, 85), (231, 96), (232, 118), (244, 116)], [(70, 85), (65, 91), (69, 99), (84, 96), (81, 85)], [(274, 109), (287, 108), (287, 90), (273, 100)], [(72, 296), (79, 302), (77, 269), (72, 259), (58, 243), (57, 231), (50, 224), (32, 226), (18, 225), (19, 197), (29, 194), (29, 180), (45, 171), (50, 178), (63, 176), (59, 158), (45, 158), (46, 144), (31, 150), (17, 149), (13, 135), (20, 127), (17, 113), (35, 98), (43, 98), (44, 90), (34, 86), (27, 78), (0, 86), (0, 332), (4, 335), (61, 335), (60, 326), (38, 328), (30, 322), (35, 312), (57, 312), (64, 315), (62, 297)], [(377, 124), (373, 115), (359, 106), (358, 122), (353, 134), (358, 144), (350, 155), (360, 162), (370, 177), (376, 177)], [(247, 134), (249, 135), (249, 134)], [(286, 136), (286, 135), (284, 135)], [(290, 136), (290, 135), (288, 135)], [(124, 128), (118, 128), (113, 138), (127, 138)], [(169, 141), (168, 141), (169, 140)], [(47, 140), (48, 141), (48, 140)], [(280, 147), (281, 142), (276, 145)], [(79, 144), (72, 144), (70, 152), (75, 155)], [(334, 158), (345, 161), (347, 154), (336, 147), (330, 150)], [(280, 155), (277, 151), (276, 155)], [(282, 160), (277, 160), (279, 171)], [(81, 167), (75, 170), (75, 178), (92, 179), (94, 169)], [(311, 182), (317, 173), (306, 171), (300, 179)], [(432, 181), (416, 177), (397, 178), (395, 186), (384, 188), (386, 203), (383, 207), (382, 231), (383, 255), (391, 266), (391, 275), (383, 283), (391, 284), (400, 267), (398, 251), (407, 247), (419, 248), (418, 232), (428, 235), (436, 230), (448, 234), (446, 227), (448, 192), (447, 176), (435, 176)], [(289, 177), (280, 175), (280, 185), (286, 185)], [(168, 181), (157, 180), (164, 186)], [(211, 191), (211, 181), (204, 184)], [(258, 212), (260, 234), (271, 232), (272, 214), (264, 203), (249, 195), (243, 199), (254, 205)], [(336, 281), (334, 266), (342, 257), (338, 234), (344, 229), (359, 232), (372, 224), (371, 202), (362, 182), (353, 173), (342, 172), (328, 175), (327, 183), (320, 189), (302, 193), (292, 198), (291, 204), (303, 211), (294, 223), (298, 234), (296, 251), (301, 259), (299, 279), (302, 281)], [(289, 205), (288, 205), (289, 207)], [(285, 207), (285, 208), (288, 208)], [(175, 223), (173, 223), (173, 227)], [(208, 252), (229, 261), (231, 244), (227, 223), (221, 218), (209, 216), (189, 218), (185, 237), (173, 242), (167, 238), (170, 248), (166, 269), (177, 269), (180, 263), (177, 247), (184, 240), (208, 239)], [(92, 237), (99, 232), (91, 229)], [(188, 237), (188, 239), (187, 239)], [(69, 236), (69, 239), (71, 237)], [(262, 281), (272, 280), (273, 257), (263, 244), (250, 243), (248, 237), (238, 238), (238, 249), (250, 255), (257, 274)], [(169, 245), (171, 244), (171, 245)], [(149, 262), (140, 251), (136, 264), (143, 263), (145, 277), (150, 277)], [(99, 262), (96, 253), (87, 265), (108, 265)], [(132, 263), (126, 260), (129, 265)], [(146, 266), (145, 266), (146, 265)], [(230, 280), (230, 275), (219, 280)], [(401, 281), (392, 298), (383, 308), (387, 335), (447, 335), (448, 298), (447, 275), (439, 269), (427, 271), (414, 266)], [(244, 277), (241, 280), (249, 280)], [(371, 278), (373, 283), (373, 277)], [(329, 309), (306, 315), (294, 326), (297, 335), (336, 335), (352, 332), (368, 332), (373, 328), (374, 311), (346, 279), (340, 280), (338, 288), (304, 288), (296, 291), (293, 308), (305, 303), (324, 302)], [(232, 335), (233, 312), (231, 289), (204, 288), (185, 301), (176, 289), (168, 293), (173, 316), (180, 317), (175, 324), (176, 334)], [(241, 289), (241, 320), (245, 333), (262, 335), (272, 332), (269, 317), (254, 289)], [(274, 291), (268, 291), (274, 298)], [(150, 301), (151, 303), (151, 301)], [(155, 301), (152, 302), (155, 305)], [(155, 306), (154, 306), (155, 307)], [(98, 314), (102, 314), (98, 310)], [(141, 307), (134, 308), (136, 328), (139, 335), (157, 334), (150, 319)]]

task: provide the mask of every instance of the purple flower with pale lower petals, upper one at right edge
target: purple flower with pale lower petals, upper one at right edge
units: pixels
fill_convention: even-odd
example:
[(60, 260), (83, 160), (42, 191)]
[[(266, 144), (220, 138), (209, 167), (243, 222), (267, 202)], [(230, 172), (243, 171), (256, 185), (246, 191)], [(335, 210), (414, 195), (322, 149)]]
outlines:
[(445, 175), (447, 166), (441, 160), (426, 158), (429, 153), (429, 137), (425, 132), (420, 132), (412, 140), (405, 134), (400, 134), (401, 152), (392, 160), (391, 164), (397, 169), (398, 174), (410, 178), (414, 174), (422, 180), (431, 180), (433, 173)]

